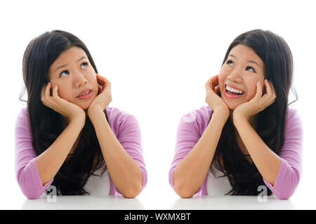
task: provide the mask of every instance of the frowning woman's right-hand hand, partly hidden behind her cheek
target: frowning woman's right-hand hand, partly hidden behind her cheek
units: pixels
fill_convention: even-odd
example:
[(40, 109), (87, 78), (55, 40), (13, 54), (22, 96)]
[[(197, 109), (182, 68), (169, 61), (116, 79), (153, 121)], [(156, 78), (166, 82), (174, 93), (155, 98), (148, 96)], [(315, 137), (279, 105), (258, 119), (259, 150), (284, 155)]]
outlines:
[(96, 74), (96, 77), (98, 81), (98, 95), (89, 105), (88, 114), (91, 114), (93, 110), (104, 111), (112, 101), (110, 81), (105, 77), (100, 76), (100, 74)]

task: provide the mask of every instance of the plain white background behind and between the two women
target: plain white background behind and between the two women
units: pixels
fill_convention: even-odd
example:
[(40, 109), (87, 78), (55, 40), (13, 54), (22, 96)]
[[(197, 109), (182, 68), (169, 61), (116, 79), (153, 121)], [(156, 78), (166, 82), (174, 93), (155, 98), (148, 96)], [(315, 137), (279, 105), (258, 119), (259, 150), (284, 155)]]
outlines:
[(251, 29), (283, 37), (294, 56), (303, 119), (303, 176), (291, 200), (315, 203), (315, 4), (313, 1), (5, 1), (1, 3), (0, 208), (25, 201), (14, 172), (14, 125), (21, 107), (22, 55), (29, 41), (62, 29), (84, 41), (112, 82), (110, 106), (136, 116), (148, 183), (138, 196), (178, 198), (169, 185), (180, 117), (206, 105), (204, 84), (231, 41)]

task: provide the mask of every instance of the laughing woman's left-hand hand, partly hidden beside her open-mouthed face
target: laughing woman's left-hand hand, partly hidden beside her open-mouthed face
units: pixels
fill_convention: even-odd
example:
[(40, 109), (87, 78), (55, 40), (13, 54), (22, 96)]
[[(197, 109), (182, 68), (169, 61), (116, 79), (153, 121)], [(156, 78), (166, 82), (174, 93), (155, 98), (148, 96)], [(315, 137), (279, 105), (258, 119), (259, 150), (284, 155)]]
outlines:
[(225, 101), (220, 98), (219, 93), (220, 90), (218, 86), (218, 75), (211, 77), (206, 81), (206, 98), (205, 102), (211, 107), (213, 112), (223, 112), (225, 115), (229, 116), (230, 110), (226, 105)]

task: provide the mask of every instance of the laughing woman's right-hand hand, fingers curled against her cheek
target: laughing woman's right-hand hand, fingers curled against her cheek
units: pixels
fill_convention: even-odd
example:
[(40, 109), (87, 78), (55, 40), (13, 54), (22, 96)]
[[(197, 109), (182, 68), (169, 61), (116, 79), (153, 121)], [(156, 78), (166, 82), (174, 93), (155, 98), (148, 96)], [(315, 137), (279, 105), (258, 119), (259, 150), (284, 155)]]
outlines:
[(262, 95), (262, 87), (258, 81), (256, 95), (248, 102), (242, 103), (235, 108), (233, 112), (233, 120), (242, 118), (249, 121), (251, 116), (265, 110), (266, 107), (275, 102), (277, 95), (275, 94), (275, 88), (273, 88), (272, 83), (265, 79), (264, 84), (266, 89), (265, 95)]

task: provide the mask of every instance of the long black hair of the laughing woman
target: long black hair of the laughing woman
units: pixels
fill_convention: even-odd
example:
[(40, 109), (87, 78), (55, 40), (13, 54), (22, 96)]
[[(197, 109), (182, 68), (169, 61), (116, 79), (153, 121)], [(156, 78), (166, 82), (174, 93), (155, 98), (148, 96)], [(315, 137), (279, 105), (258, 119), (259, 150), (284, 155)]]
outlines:
[[(270, 147), (270, 150), (279, 154), (284, 145), (288, 97), (293, 82), (291, 50), (286, 41), (277, 34), (262, 29), (254, 29), (240, 34), (232, 41), (225, 54), (223, 64), (232, 48), (237, 44), (249, 46), (263, 60), (265, 79), (271, 81), (275, 88), (277, 95), (275, 103), (256, 114), (258, 121), (255, 129), (264, 143)], [(294, 94), (297, 100), (295, 90)], [(223, 157), (224, 167), (220, 164), (220, 156)], [(228, 176), (232, 190), (226, 195), (258, 195), (258, 186), (265, 185), (256, 165), (249, 162), (247, 158), (249, 159), (249, 154), (243, 154), (239, 149), (235, 127), (228, 119), (223, 127), (210, 167), (214, 175), (214, 169), (217, 169), (224, 173), (223, 176)], [(268, 189), (268, 195), (272, 195), (270, 189)]]

